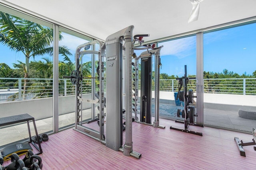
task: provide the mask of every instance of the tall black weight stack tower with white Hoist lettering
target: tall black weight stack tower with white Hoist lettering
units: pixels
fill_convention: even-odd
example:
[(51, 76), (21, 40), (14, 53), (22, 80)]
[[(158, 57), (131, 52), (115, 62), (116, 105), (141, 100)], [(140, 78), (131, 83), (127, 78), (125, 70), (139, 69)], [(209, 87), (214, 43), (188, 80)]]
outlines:
[(152, 57), (141, 57), (140, 121), (151, 124)]

